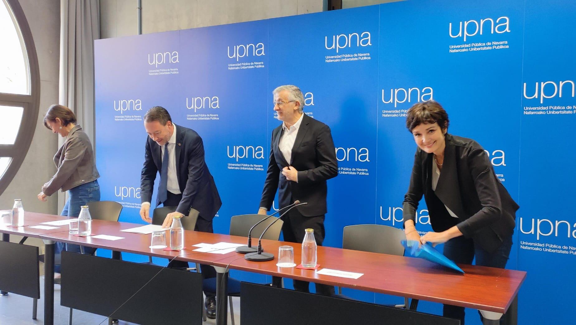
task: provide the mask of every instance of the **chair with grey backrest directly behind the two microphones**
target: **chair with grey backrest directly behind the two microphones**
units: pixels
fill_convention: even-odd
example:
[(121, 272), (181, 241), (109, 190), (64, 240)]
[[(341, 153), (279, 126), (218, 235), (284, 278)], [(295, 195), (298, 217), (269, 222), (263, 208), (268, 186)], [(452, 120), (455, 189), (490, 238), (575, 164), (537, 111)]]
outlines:
[[(266, 215), (241, 215), (233, 216), (230, 219), (230, 235), (233, 236), (248, 236), (248, 231), (254, 224), (258, 221), (266, 218)], [(264, 229), (268, 227), (274, 220), (278, 218), (272, 217), (266, 221), (263, 221), (257, 225), (254, 230), (252, 230), (252, 245), (258, 243), (258, 238), (264, 232)], [(266, 234), (262, 236), (263, 239), (278, 240), (280, 238), (280, 232), (282, 231), (282, 224), (284, 221), (278, 220), (276, 223), (268, 229)], [(202, 289), (205, 292), (213, 293), (216, 295), (216, 278), (209, 278), (202, 282)], [(235, 278), (228, 278), (227, 295), (230, 303), (230, 318), (232, 319), (232, 325), (234, 325), (234, 307), (232, 305), (232, 297), (240, 297), (240, 281)]]

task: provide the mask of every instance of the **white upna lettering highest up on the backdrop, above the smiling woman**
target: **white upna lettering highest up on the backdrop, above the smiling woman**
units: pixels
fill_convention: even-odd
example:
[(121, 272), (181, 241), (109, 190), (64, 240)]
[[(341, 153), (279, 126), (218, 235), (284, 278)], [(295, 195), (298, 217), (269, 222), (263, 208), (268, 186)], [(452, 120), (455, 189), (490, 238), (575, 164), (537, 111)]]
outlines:
[[(456, 27), (458, 26), (458, 27)], [(453, 39), (458, 37), (464, 37), (464, 41), (467, 38), (476, 35), (487, 35), (487, 34), (502, 34), (510, 32), (510, 18), (506, 16), (499, 17), (494, 21), (492, 18), (484, 18), (477, 20), (465, 20), (452, 25), (452, 22), (448, 25), (448, 33)]]

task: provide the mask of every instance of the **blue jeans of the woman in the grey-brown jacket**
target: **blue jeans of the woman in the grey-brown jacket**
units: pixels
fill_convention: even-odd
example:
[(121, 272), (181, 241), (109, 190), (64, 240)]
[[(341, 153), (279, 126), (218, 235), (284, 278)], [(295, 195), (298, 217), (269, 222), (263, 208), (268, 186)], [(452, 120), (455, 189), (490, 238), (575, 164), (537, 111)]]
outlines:
[[(68, 200), (66, 201), (60, 215), (69, 218), (76, 218), (80, 214), (80, 207), (93, 201), (100, 201), (100, 185), (98, 185), (97, 180), (78, 185), (75, 188), (68, 190)], [(59, 254), (63, 251), (64, 245), (64, 243), (56, 243), (54, 253)], [(66, 251), (79, 253), (80, 246), (66, 244)], [(94, 251), (96, 251), (96, 248), (84, 247), (84, 253), (86, 254), (94, 254)], [(60, 266), (57, 265), (54, 270), (55, 272), (59, 272)]]

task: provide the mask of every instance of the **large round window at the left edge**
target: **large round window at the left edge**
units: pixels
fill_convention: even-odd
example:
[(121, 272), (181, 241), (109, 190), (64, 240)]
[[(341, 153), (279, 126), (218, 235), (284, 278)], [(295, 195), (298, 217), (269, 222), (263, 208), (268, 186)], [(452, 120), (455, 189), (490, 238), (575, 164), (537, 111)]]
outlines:
[(2, 194), (22, 165), (34, 136), (40, 101), (40, 76), (32, 33), (17, 0), (0, 0), (0, 30)]

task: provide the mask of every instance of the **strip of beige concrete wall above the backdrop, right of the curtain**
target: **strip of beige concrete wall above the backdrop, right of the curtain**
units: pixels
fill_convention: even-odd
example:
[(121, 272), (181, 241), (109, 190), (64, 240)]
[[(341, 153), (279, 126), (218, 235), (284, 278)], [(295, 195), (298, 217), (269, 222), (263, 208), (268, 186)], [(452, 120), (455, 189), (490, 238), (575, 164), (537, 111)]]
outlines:
[[(138, 34), (137, 0), (100, 0), (103, 39)], [(323, 11), (325, 0), (142, 0), (142, 33)]]

